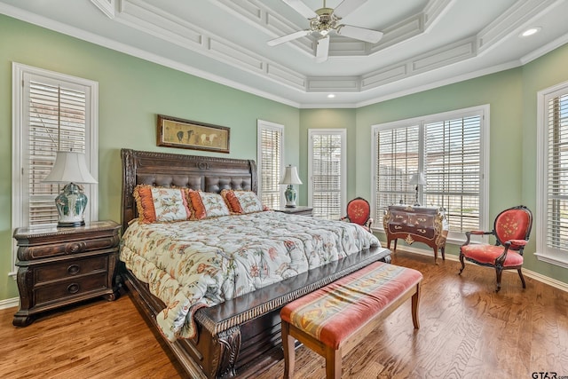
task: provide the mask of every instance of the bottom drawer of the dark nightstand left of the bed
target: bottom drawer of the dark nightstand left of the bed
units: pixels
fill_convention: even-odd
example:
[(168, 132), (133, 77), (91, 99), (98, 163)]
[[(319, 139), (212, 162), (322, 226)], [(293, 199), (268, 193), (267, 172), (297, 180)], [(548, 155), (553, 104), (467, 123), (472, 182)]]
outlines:
[(68, 280), (39, 285), (35, 289), (36, 306), (51, 301), (61, 302), (66, 297), (80, 296), (86, 292), (107, 288), (106, 272), (94, 273)]

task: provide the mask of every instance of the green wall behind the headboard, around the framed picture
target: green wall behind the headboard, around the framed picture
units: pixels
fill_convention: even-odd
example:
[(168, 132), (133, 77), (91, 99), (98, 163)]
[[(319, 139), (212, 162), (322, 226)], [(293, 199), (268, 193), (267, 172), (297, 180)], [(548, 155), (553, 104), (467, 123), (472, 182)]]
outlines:
[[(12, 258), (12, 61), (99, 83), (99, 218), (120, 221), (120, 149), (256, 160), (256, 120), (299, 138), (299, 110), (0, 15), (0, 300), (18, 296)], [(231, 154), (156, 146), (156, 114), (231, 128)], [(298, 164), (288, 143), (285, 162)], [(304, 177), (303, 177), (304, 179)]]

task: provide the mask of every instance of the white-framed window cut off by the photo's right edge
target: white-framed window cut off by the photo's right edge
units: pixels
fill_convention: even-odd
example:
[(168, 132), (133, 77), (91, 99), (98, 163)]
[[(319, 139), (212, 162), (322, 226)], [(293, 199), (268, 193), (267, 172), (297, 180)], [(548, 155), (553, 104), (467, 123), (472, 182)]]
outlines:
[(568, 268), (568, 83), (538, 94), (536, 256)]

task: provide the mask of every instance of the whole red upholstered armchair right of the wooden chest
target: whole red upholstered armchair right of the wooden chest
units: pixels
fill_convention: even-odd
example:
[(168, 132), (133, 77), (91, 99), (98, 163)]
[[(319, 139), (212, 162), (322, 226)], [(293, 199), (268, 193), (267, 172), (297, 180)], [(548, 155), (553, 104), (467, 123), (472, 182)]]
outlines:
[[(477, 265), (494, 267), (497, 273), (497, 289), (501, 289), (501, 272), (503, 270), (517, 270), (518, 276), (526, 288), (525, 278), (521, 267), (523, 266), (523, 249), (529, 240), (533, 227), (533, 213), (524, 205), (503, 210), (495, 218), (493, 231), (472, 231), (465, 233), (467, 241), (460, 247), (460, 274), (465, 268), (464, 259)], [(469, 244), (471, 235), (493, 234), (495, 244)]]

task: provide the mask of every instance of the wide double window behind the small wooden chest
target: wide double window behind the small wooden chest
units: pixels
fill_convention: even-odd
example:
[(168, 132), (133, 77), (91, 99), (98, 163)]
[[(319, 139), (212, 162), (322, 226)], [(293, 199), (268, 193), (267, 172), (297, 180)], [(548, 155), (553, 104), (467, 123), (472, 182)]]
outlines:
[[(419, 203), (446, 209), (450, 239), (484, 229), (488, 114), (488, 106), (474, 107), (374, 125), (375, 217), (390, 204), (414, 204), (418, 187)], [(409, 183), (416, 172), (425, 186)]]

